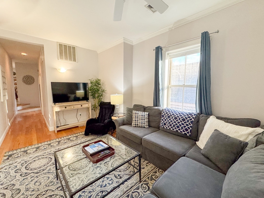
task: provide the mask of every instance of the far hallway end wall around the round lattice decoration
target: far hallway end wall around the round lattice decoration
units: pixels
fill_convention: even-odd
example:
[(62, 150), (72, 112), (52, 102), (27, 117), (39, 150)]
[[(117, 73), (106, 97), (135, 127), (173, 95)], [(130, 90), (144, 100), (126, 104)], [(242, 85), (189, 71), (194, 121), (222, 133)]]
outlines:
[[(17, 95), (20, 99), (20, 104), (30, 104), (31, 107), (39, 107), (39, 73), (37, 64), (15, 63), (17, 76)], [(27, 85), (22, 82), (25, 75), (33, 76), (35, 82)]]

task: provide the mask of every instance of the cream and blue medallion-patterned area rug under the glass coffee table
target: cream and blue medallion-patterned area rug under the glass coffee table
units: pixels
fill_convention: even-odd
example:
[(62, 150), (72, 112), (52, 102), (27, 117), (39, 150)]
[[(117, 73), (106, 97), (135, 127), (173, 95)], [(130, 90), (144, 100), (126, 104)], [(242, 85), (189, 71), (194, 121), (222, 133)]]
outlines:
[[(6, 152), (0, 164), (0, 197), (64, 197), (60, 182), (56, 180), (54, 150), (96, 137), (97, 135), (84, 136), (82, 132)], [(131, 161), (131, 163), (138, 167), (138, 162)], [(141, 160), (141, 169), (140, 183), (137, 173), (111, 192), (107, 198), (136, 198), (148, 193), (163, 171), (144, 159)], [(127, 163), (74, 197), (100, 198), (133, 171), (135, 171), (134, 168)]]

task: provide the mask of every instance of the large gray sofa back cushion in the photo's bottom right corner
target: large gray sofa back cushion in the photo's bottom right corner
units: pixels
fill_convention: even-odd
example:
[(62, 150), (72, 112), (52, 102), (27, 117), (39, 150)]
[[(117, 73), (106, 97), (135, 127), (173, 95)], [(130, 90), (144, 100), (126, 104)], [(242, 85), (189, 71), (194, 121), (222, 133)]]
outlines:
[(264, 196), (264, 144), (242, 155), (227, 172), (222, 198)]

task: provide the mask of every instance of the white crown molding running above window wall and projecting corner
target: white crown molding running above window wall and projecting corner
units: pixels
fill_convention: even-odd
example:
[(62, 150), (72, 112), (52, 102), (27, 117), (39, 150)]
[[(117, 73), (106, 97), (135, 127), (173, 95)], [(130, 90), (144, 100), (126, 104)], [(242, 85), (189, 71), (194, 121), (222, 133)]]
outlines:
[(111, 43), (111, 44), (99, 49), (97, 51), (97, 53), (99, 54), (102, 51), (105, 51), (105, 50), (107, 50), (107, 49), (109, 49), (109, 48), (111, 48), (111, 47), (113, 47), (115, 45), (118, 45), (118, 44), (122, 43), (122, 42), (128, 43), (130, 45), (135, 45), (135, 44), (140, 43), (142, 41), (148, 40), (148, 39), (150, 39), (150, 38), (152, 38), (154, 36), (158, 36), (158, 35), (160, 35), (160, 34), (162, 34), (164, 32), (168, 32), (168, 31), (170, 31), (172, 29), (175, 29), (177, 27), (185, 25), (186, 23), (190, 23), (192, 21), (195, 21), (195, 20), (197, 20), (199, 18), (202, 18), (202, 17), (205, 17), (207, 15), (210, 15), (210, 14), (212, 14), (214, 12), (219, 11), (219, 10), (223, 10), (224, 8), (227, 8), (229, 6), (233, 6), (234, 4), (237, 4), (237, 3), (242, 2), (242, 1), (244, 1), (244, 0), (223, 1), (222, 3), (219, 3), (219, 4), (217, 4), (217, 5), (213, 6), (213, 7), (210, 7), (208, 9), (204, 10), (204, 11), (198, 12), (198, 13), (196, 13), (194, 15), (191, 15), (189, 17), (186, 17), (186, 18), (183, 18), (181, 20), (178, 20), (175, 23), (173, 23), (173, 24), (171, 24), (171, 25), (169, 25), (167, 27), (164, 27), (161, 30), (158, 30), (158, 31), (155, 31), (155, 32), (153, 32), (151, 34), (143, 36), (140, 39), (136, 39), (134, 41), (131, 41), (131, 40), (126, 39), (126, 38), (121, 38), (121, 39), (115, 41), (114, 43)]

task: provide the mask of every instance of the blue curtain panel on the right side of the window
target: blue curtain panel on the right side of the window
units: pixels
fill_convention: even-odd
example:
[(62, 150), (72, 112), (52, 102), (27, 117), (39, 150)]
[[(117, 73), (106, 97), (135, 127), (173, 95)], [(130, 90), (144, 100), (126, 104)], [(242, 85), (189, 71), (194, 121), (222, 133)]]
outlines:
[(200, 65), (196, 87), (196, 112), (212, 115), (210, 36), (207, 31), (201, 34)]

